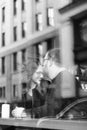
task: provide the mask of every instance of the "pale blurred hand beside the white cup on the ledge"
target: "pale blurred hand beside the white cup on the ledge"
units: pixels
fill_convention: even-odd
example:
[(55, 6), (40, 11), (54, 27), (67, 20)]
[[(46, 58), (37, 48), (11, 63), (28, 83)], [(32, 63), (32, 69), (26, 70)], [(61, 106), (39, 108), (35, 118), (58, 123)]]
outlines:
[(22, 118), (27, 116), (23, 107), (16, 107), (15, 109), (13, 109), (12, 115), (15, 118)]

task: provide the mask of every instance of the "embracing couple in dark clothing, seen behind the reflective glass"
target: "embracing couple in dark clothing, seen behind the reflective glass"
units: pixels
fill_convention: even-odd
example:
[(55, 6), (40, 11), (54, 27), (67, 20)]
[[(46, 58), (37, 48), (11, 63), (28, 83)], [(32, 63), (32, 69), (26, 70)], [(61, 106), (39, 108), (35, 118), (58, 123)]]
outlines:
[(78, 96), (79, 81), (62, 66), (58, 48), (46, 53), (43, 64), (33, 74), (32, 81), (29, 94), (32, 96), (33, 93), (33, 105), (38, 108), (35, 111), (36, 118), (56, 116), (62, 108), (63, 98)]

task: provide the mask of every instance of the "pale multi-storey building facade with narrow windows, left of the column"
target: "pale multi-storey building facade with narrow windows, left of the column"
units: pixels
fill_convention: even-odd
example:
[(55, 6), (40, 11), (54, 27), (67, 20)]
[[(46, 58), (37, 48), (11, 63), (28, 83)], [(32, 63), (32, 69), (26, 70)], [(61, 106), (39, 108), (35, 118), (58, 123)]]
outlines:
[(57, 46), (56, 5), (47, 0), (0, 1), (2, 102), (26, 98), (23, 93), (36, 63), (48, 49)]

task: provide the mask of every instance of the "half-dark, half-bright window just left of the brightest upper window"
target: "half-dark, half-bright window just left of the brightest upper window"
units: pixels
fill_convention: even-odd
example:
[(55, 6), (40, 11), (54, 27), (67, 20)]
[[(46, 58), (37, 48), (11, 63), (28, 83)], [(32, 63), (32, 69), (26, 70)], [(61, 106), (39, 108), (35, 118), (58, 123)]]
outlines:
[(43, 25), (42, 25), (42, 14), (36, 14), (36, 30), (42, 31)]

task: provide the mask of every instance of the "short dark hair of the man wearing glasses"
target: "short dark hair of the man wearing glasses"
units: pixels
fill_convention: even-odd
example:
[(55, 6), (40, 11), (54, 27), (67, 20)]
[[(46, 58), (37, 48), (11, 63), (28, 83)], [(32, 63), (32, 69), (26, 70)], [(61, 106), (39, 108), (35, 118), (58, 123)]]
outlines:
[(48, 59), (52, 59), (55, 63), (61, 64), (60, 49), (54, 48), (47, 52)]

